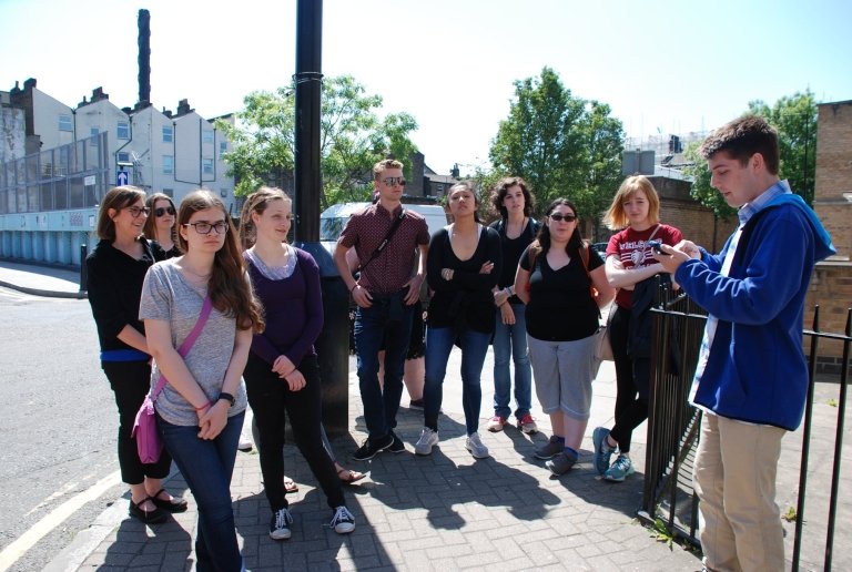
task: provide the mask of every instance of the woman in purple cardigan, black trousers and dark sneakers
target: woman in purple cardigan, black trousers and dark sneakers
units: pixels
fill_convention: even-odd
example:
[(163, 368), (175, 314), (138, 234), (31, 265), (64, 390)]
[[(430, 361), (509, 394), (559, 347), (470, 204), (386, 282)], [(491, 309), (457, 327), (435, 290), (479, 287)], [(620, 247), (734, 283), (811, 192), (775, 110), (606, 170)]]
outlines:
[(332, 528), (355, 530), (334, 461), (323, 447), (322, 390), (314, 343), (323, 328), (320, 268), (304, 251), (287, 244), (291, 200), (278, 188), (261, 187), (243, 205), (240, 235), (266, 329), (254, 336), (243, 378), (260, 433), (261, 472), (272, 509), (270, 537), (291, 537), (284, 489), (284, 415), (298, 450), (333, 509)]

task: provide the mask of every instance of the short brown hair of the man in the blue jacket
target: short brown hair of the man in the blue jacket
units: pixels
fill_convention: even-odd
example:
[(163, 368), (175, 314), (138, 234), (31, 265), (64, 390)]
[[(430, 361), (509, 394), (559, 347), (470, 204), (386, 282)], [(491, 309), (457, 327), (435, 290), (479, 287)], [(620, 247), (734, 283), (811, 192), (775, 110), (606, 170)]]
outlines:
[(704, 159), (710, 159), (720, 151), (724, 151), (743, 166), (752, 155), (760, 153), (767, 171), (773, 175), (778, 174), (778, 132), (763, 118), (743, 115), (726, 123), (713, 131), (698, 150)]

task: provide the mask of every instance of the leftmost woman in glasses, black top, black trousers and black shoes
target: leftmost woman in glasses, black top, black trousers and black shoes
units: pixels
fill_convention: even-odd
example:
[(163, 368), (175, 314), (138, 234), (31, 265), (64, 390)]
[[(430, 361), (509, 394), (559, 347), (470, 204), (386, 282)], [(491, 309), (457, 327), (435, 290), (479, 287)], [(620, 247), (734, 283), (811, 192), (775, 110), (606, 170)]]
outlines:
[(145, 273), (165, 253), (142, 236), (148, 219), (145, 193), (119, 186), (103, 197), (98, 214), (98, 246), (85, 259), (89, 304), (98, 327), (101, 368), (119, 408), (119, 467), (130, 484), (130, 515), (145, 523), (162, 522), (168, 512), (183, 512), (186, 501), (162, 488), (172, 463), (164, 452), (155, 463), (139, 459), (131, 437), (133, 422), (151, 382), (151, 351), (139, 319)]

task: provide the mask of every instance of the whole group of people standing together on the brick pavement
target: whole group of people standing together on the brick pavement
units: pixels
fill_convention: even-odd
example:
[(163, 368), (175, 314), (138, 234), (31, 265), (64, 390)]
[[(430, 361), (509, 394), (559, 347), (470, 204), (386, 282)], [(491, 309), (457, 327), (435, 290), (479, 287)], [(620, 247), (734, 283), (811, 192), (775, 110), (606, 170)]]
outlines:
[[(782, 570), (783, 531), (774, 502), (780, 442), (801, 421), (808, 387), (801, 345), (808, 284), (814, 264), (834, 249), (813, 212), (778, 176), (778, 136), (763, 120), (736, 120), (700, 151), (712, 185), (739, 208), (740, 226), (722, 253), (713, 256), (661, 224), (659, 197), (650, 181), (637, 175), (621, 184), (605, 216), (619, 229), (606, 262), (581, 239), (571, 202), (554, 201), (539, 226), (530, 216), (531, 193), (518, 177), (496, 185), (491, 201), (501, 216), (489, 227), (479, 223), (471, 185), (452, 186), (447, 201), (454, 222), (429, 237), (423, 217), (400, 204), (402, 163), (377, 163), (378, 200), (349, 219), (334, 253), (357, 305), (355, 349), (368, 437), (353, 458), (405, 450), (394, 429), (412, 317), (425, 280), (432, 299), (424, 427), (415, 452), (429, 454), (439, 441), (446, 365), (458, 346), (465, 446), (477, 459), (488, 457), (478, 425), (480, 374), (493, 340), (495, 412), (488, 429), (501, 430), (511, 413), (514, 361), (518, 428), (537, 430), (530, 415), (534, 377), (554, 430), (535, 456), (555, 474), (570, 470), (599, 365), (600, 308), (615, 298), (608, 320), (618, 387), (615, 425), (596, 428), (592, 443), (597, 471), (607, 480), (623, 480), (635, 470), (631, 433), (648, 416), (651, 390), (648, 341), (636, 333), (647, 324), (649, 279), (667, 274), (673, 287), (709, 310), (690, 396), (704, 413), (693, 474), (704, 564), (708, 570)], [(351, 532), (354, 518), (341, 486), (353, 471), (335, 466), (321, 423), (314, 349), (323, 325), (318, 269), (308, 254), (286, 242), (290, 198), (265, 187), (247, 198), (242, 247), (224, 205), (206, 191), (181, 203), (176, 233), (169, 221), (175, 216), (171, 200), (154, 195), (148, 206), (144, 201), (134, 187), (106, 194), (98, 221), (101, 242), (87, 259), (102, 368), (119, 408), (119, 462), (131, 489), (130, 514), (156, 522), (166, 512), (186, 510), (185, 500), (162, 488), (174, 459), (199, 505), (199, 570), (244, 569), (230, 480), (250, 402), (273, 512), (271, 537), (290, 538), (292, 524), (284, 486), (285, 412), (333, 509), (332, 527)], [(145, 228), (152, 211), (156, 221)], [(661, 243), (659, 252), (651, 248), (652, 239)], [(356, 273), (347, 262), (349, 251), (357, 258)], [(199, 324), (209, 306), (209, 317)], [(192, 330), (199, 326), (195, 338)], [(192, 348), (175, 349), (187, 337), (195, 340)], [(155, 409), (165, 451), (145, 464), (130, 433), (161, 375), (169, 382)]]

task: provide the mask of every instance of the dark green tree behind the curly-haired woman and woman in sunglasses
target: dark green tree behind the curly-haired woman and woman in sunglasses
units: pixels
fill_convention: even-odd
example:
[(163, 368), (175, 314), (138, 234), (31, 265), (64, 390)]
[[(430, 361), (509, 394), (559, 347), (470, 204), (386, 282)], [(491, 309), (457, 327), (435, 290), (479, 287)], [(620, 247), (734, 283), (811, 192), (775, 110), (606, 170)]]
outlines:
[(621, 180), (623, 130), (610, 108), (571, 95), (554, 70), (515, 82), (509, 116), (489, 157), (496, 170), (523, 176), (542, 210), (565, 196), (597, 221)]

